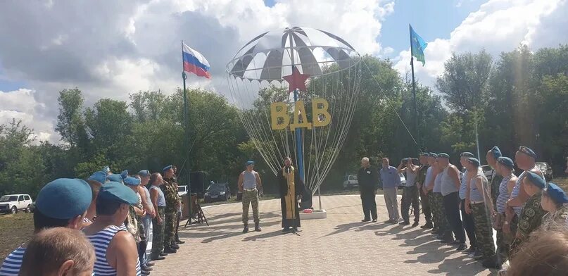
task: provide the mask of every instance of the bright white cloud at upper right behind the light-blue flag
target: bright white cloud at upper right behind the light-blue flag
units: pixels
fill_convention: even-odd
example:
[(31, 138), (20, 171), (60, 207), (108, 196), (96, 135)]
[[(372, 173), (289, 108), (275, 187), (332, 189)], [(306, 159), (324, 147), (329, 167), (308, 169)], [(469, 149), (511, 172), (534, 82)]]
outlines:
[[(415, 63), (415, 73), (422, 83), (432, 86), (453, 51), (486, 49), (497, 57), (500, 52), (512, 51), (521, 44), (538, 49), (566, 43), (567, 14), (566, 0), (490, 0), (479, 11), (470, 13), (449, 39), (429, 42), (424, 51), (426, 66)], [(400, 52), (396, 68), (401, 73), (410, 70), (410, 51)]]

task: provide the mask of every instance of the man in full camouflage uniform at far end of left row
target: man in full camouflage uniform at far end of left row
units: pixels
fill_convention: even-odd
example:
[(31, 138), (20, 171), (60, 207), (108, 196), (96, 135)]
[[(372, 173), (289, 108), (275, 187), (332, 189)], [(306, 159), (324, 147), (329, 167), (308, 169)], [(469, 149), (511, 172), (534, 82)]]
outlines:
[(177, 184), (173, 177), (174, 170), (172, 165), (168, 165), (162, 170), (164, 184), (162, 186), (165, 196), (165, 231), (164, 231), (164, 252), (175, 253), (179, 246), (175, 242), (175, 224), (177, 222), (177, 209), (180, 206), (179, 195), (177, 194)]

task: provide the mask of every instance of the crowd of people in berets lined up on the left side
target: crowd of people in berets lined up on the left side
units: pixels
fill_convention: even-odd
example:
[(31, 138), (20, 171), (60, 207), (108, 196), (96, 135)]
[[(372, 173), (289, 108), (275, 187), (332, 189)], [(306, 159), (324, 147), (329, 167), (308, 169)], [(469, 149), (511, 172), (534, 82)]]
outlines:
[(153, 261), (184, 243), (175, 175), (173, 165), (136, 175), (105, 167), (86, 181), (49, 182), (35, 201), (34, 237), (6, 257), (0, 275), (150, 275)]

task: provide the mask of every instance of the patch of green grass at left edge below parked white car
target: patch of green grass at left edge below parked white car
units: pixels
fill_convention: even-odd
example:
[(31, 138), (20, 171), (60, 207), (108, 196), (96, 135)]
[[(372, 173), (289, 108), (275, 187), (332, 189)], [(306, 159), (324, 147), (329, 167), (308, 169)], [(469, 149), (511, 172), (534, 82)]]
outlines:
[(18, 246), (27, 242), (34, 232), (32, 213), (19, 212), (14, 215), (0, 215), (0, 260), (8, 256)]

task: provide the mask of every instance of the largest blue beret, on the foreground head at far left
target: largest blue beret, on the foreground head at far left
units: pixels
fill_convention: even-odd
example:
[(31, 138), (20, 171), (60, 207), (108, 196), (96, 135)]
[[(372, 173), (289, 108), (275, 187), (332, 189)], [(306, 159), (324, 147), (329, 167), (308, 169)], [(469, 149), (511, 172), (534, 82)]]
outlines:
[(83, 215), (92, 199), (91, 187), (84, 180), (59, 178), (39, 191), (35, 206), (49, 218), (67, 220)]

